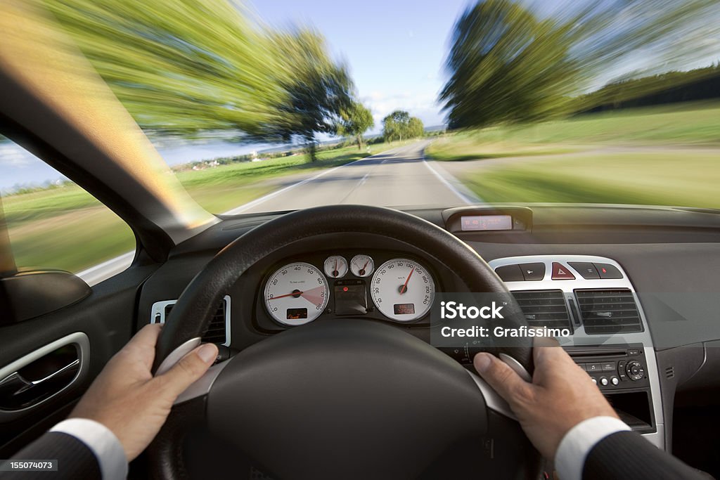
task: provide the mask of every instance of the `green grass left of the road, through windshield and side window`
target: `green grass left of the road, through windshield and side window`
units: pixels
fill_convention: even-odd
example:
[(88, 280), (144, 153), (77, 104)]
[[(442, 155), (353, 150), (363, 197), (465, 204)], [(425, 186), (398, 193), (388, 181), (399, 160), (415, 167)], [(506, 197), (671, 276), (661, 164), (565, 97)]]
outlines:
[[(370, 154), (395, 146), (371, 145)], [(321, 150), (315, 163), (302, 154), (183, 171), (178, 177), (202, 207), (222, 213), (271, 191), (266, 179), (338, 166), (370, 154), (356, 146)], [(2, 201), (18, 266), (77, 272), (135, 248), (130, 227), (78, 186), (5, 196)]]

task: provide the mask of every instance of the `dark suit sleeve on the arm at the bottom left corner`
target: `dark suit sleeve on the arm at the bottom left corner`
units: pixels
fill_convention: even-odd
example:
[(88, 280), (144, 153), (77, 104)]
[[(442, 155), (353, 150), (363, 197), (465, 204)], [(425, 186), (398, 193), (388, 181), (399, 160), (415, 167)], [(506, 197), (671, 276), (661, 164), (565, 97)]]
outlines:
[(100, 480), (100, 466), (94, 453), (67, 433), (48, 432), (12, 457), (12, 460), (57, 460), (58, 471), (4, 471), (0, 480), (9, 479), (83, 479)]

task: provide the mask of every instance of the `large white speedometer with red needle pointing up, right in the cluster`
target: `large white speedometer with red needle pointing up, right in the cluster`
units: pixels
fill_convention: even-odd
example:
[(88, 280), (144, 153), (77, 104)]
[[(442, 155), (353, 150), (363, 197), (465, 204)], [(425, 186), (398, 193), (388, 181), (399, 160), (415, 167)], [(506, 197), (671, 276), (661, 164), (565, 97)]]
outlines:
[(372, 301), (382, 314), (397, 322), (411, 322), (432, 307), (435, 281), (420, 263), (393, 258), (377, 269), (371, 291)]

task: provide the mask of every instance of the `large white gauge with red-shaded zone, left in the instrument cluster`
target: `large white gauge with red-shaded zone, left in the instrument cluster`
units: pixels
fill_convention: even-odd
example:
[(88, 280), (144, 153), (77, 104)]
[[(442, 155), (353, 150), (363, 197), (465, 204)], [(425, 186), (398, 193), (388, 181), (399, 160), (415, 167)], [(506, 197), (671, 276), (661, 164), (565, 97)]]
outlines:
[(273, 273), (265, 284), (269, 314), (292, 327), (312, 322), (328, 306), (328, 281), (310, 263), (290, 263)]

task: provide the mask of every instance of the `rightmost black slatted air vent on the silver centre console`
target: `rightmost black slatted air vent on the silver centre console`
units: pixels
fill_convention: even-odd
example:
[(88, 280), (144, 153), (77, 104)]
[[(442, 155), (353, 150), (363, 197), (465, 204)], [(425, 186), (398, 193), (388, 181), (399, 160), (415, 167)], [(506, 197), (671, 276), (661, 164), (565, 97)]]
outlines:
[(642, 332), (635, 297), (629, 289), (575, 290), (588, 335)]

